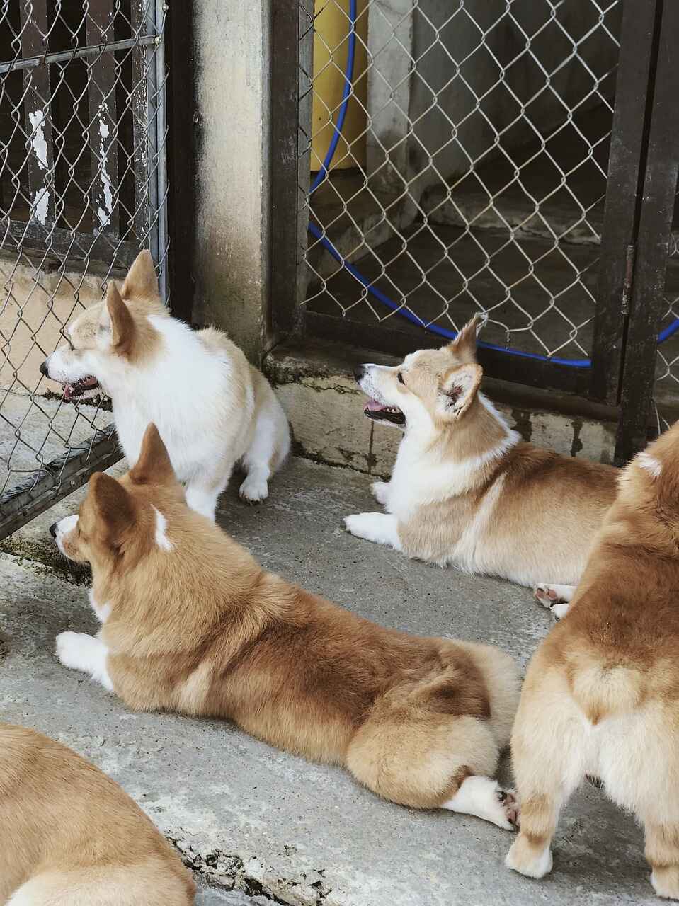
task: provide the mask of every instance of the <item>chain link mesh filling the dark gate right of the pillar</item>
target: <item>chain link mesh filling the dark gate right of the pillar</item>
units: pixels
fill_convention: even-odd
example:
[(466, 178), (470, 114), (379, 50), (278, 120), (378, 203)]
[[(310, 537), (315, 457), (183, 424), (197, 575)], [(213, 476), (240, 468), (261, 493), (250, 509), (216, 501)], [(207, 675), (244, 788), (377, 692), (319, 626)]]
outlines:
[[(354, 24), (349, 9), (300, 5), (301, 213), (320, 233), (301, 254), (306, 310), (364, 323), (367, 342), (420, 330), (399, 314), (457, 330), (479, 312), (484, 340), (587, 358), (620, 0), (364, 0)], [(344, 134), (310, 193), (352, 29)]]

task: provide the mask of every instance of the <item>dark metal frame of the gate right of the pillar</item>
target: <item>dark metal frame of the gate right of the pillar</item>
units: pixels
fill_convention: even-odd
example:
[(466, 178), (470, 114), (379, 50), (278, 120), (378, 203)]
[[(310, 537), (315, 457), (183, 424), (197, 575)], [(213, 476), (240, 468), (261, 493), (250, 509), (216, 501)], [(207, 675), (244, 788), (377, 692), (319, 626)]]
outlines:
[[(272, 79), (271, 246), (272, 323), (277, 337), (307, 333), (393, 355), (412, 352), (412, 333), (306, 312), (300, 298), (300, 249), (306, 243), (302, 210), (308, 161), (299, 149), (300, 82), (310, 66), (300, 51), (313, 19), (313, 0), (278, 0), (274, 8)], [(655, 369), (655, 330), (662, 304), (664, 266), (676, 191), (679, 151), (677, 96), (679, 7), (669, 0), (623, 0), (616, 101), (606, 181), (592, 368), (568, 369), (549, 361), (480, 350), (494, 378), (557, 390), (618, 412), (616, 462), (646, 443)], [(675, 40), (676, 43), (676, 40)], [(306, 55), (305, 55), (306, 54)], [(673, 69), (674, 65), (674, 69)], [(300, 165), (301, 161), (301, 165)], [(306, 168), (305, 165), (306, 164)], [(291, 216), (294, 213), (294, 216)], [(419, 345), (441, 339), (422, 330)], [(585, 412), (583, 412), (585, 414)]]

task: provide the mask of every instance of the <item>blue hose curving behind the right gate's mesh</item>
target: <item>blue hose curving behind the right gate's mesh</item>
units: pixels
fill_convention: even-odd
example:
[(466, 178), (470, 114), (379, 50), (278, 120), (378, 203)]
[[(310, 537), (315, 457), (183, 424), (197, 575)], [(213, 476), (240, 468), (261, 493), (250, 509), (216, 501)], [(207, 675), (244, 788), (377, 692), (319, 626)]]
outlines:
[[(311, 184), (309, 189), (309, 197), (311, 197), (315, 190), (321, 185), (323, 180), (327, 177), (330, 171), (330, 165), (333, 162), (335, 157), (335, 151), (337, 150), (337, 144), (339, 143), (340, 137), (342, 135), (342, 130), (344, 129), (344, 119), (346, 118), (346, 110), (349, 106), (349, 100), (352, 94), (352, 80), (354, 79), (354, 61), (356, 55), (356, 0), (349, 0), (349, 22), (351, 24), (351, 31), (349, 32), (349, 40), (346, 52), (346, 67), (344, 69), (344, 90), (342, 92), (342, 102), (340, 103), (339, 113), (337, 115), (337, 122), (334, 124), (333, 138), (328, 146), (328, 149), (325, 153), (325, 159), (321, 164), (321, 169), (315, 175), (315, 179)], [(345, 271), (351, 274), (358, 283), (365, 287), (365, 289), (370, 293), (373, 298), (375, 298), (379, 303), (385, 305), (387, 308), (390, 308), (394, 313), (398, 314), (399, 317), (405, 318), (406, 321), (410, 321), (413, 324), (417, 324), (418, 327), (422, 327), (425, 331), (429, 333), (435, 333), (438, 336), (445, 338), (446, 340), (455, 340), (457, 337), (457, 331), (447, 330), (445, 327), (439, 327), (438, 324), (427, 323), (422, 321), (422, 318), (418, 315), (412, 313), (403, 305), (400, 305), (390, 299), (389, 296), (383, 294), (383, 292), (377, 289), (376, 286), (373, 286), (371, 280), (368, 280), (364, 277), (361, 272), (350, 264), (340, 253), (337, 251), (335, 246), (330, 242), (330, 240), (323, 235), (322, 230), (315, 226), (314, 223), (309, 222), (308, 230), (315, 236), (315, 238), (320, 242), (320, 244), (325, 248), (326, 251), (330, 253), (335, 258), (335, 261), (338, 264), (342, 265)], [(674, 333), (679, 331), (679, 318), (674, 320), (671, 324), (668, 324), (658, 334), (657, 342), (661, 343), (665, 340), (668, 340)], [(490, 342), (479, 342), (481, 349), (492, 349), (496, 352), (505, 352), (507, 355), (517, 355), (522, 359), (537, 359), (538, 361), (549, 361), (555, 365), (565, 365), (567, 368), (591, 368), (592, 360), (591, 359), (559, 359), (555, 356), (548, 355), (539, 355), (537, 352), (522, 352), (519, 349), (512, 349), (508, 346), (496, 346), (494, 343)]]

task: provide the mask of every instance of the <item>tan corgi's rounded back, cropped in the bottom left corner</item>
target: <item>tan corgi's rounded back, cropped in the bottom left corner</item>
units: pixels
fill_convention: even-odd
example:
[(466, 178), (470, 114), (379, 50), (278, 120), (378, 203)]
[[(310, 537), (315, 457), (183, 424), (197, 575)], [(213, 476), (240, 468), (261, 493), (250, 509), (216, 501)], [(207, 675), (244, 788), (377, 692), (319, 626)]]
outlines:
[(0, 723), (0, 903), (190, 906), (196, 885), (121, 787), (70, 748)]

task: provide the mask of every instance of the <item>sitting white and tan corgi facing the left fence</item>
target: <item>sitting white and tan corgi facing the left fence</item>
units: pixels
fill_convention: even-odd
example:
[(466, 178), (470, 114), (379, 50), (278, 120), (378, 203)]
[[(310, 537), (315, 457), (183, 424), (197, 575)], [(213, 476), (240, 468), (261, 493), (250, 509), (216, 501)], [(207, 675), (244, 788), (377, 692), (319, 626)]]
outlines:
[(286, 415), (264, 375), (225, 333), (192, 331), (161, 304), (150, 252), (138, 255), (120, 290), (68, 327), (69, 342), (40, 367), (78, 402), (102, 390), (112, 400), (118, 439), (130, 466), (144, 429), (162, 431), (189, 506), (214, 519), (217, 499), (240, 462), (240, 496), (268, 495), (268, 479), (287, 457)]

